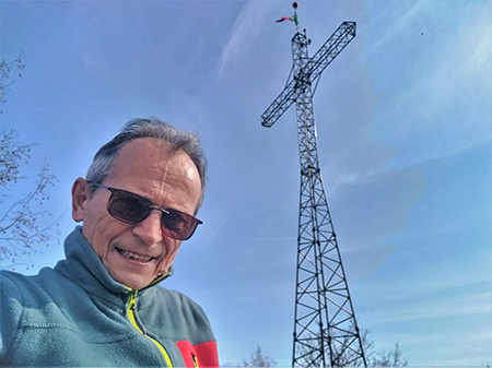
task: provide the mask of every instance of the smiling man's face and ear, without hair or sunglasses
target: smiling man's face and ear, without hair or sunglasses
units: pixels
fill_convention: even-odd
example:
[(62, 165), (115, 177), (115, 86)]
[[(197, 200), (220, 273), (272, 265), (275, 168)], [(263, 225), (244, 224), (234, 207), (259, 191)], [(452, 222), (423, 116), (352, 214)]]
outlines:
[[(152, 138), (125, 144), (103, 185), (191, 215), (201, 193), (200, 176), (189, 156), (183, 151), (169, 154), (165, 142)], [(108, 190), (101, 188), (89, 198), (86, 182), (78, 179), (72, 194), (73, 218), (83, 221), (83, 236), (113, 278), (141, 289), (168, 271), (183, 241), (161, 233), (159, 211), (139, 224), (125, 224), (106, 210)]]

